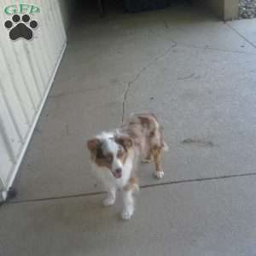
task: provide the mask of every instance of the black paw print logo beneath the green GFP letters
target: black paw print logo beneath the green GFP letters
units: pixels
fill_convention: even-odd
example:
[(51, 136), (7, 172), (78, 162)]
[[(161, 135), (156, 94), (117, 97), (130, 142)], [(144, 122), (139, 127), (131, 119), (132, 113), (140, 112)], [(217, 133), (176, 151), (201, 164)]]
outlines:
[[(23, 22), (22, 22), (22, 21)], [(30, 20), (29, 15), (13, 15), (12, 20), (6, 20), (4, 26), (9, 29), (9, 38), (16, 40), (25, 38), (30, 40), (33, 37), (33, 30), (38, 27), (38, 21)]]

